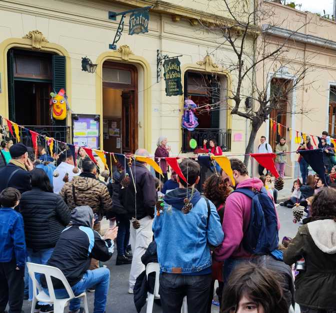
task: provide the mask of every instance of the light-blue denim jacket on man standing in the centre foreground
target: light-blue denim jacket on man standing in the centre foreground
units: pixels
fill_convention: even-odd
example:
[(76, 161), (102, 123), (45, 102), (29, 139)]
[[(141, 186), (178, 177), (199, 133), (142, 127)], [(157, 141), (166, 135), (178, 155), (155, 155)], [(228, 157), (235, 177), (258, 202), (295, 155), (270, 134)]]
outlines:
[(211, 266), (208, 244), (219, 246), (224, 235), (216, 208), (211, 201), (209, 204), (211, 212), (207, 225), (204, 198), (200, 198), (187, 214), (164, 202), (152, 226), (162, 272), (197, 275)]

